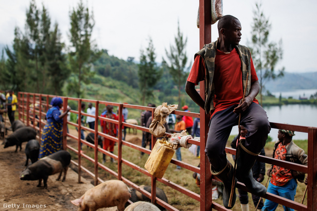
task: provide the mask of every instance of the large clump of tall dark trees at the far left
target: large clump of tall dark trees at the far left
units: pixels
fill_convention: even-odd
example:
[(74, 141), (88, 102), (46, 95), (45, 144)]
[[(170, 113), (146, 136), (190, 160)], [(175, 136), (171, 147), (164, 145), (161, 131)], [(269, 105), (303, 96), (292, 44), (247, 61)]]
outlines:
[[(61, 94), (68, 77), (64, 44), (60, 41), (58, 25), (51, 30), (51, 18), (45, 6), (39, 10), (31, 0), (26, 11), (25, 32), (14, 30), (12, 49), (5, 47), (7, 60), (2, 87), (15, 91)], [(51, 88), (53, 87), (53, 88)]]

